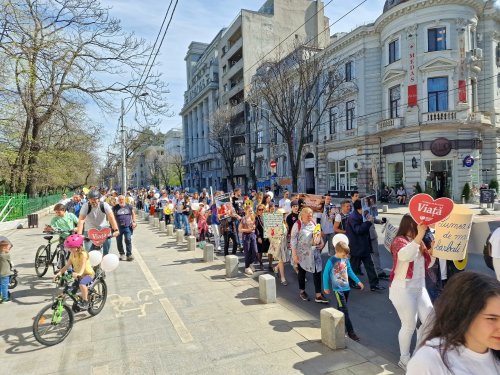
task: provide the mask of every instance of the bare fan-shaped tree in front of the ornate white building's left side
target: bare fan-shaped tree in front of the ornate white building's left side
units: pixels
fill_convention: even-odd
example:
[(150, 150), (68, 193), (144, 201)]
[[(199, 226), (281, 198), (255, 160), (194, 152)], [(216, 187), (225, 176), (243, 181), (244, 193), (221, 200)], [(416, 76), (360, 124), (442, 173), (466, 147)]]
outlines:
[(254, 76), (251, 96), (267, 103), (273, 126), (287, 145), (294, 191), (305, 144), (333, 102), (353, 89), (342, 68), (325, 51), (295, 44), (293, 52), (278, 53)]

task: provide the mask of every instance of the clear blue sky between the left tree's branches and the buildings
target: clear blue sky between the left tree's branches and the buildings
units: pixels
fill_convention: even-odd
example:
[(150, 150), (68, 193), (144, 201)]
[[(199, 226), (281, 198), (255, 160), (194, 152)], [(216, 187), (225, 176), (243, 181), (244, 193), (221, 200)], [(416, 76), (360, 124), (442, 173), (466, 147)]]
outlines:
[[(341, 18), (363, 0), (329, 0), (325, 14), (330, 25)], [(170, 1), (157, 0), (102, 0), (103, 5), (111, 7), (111, 16), (118, 18), (126, 31), (153, 44)], [(178, 115), (184, 101), (186, 90), (186, 68), (184, 57), (192, 41), (209, 43), (217, 32), (228, 26), (240, 9), (258, 10), (265, 0), (179, 0), (174, 18), (162, 45), (157, 61), (163, 79), (168, 82), (170, 94), (167, 97), (172, 106), (174, 117), (164, 118), (159, 129), (165, 132), (173, 127), (181, 127)], [(350, 31), (367, 22), (374, 21), (382, 13), (385, 0), (368, 0), (356, 11), (331, 26), (331, 33)], [(145, 56), (147, 59), (147, 56)], [(119, 107), (119, 98), (116, 107)], [(99, 122), (104, 123), (108, 142), (111, 143), (116, 130), (119, 114), (116, 116), (99, 114)], [(133, 121), (129, 115), (128, 121)], [(109, 124), (109, 125), (106, 125)], [(106, 143), (108, 143), (106, 142)]]

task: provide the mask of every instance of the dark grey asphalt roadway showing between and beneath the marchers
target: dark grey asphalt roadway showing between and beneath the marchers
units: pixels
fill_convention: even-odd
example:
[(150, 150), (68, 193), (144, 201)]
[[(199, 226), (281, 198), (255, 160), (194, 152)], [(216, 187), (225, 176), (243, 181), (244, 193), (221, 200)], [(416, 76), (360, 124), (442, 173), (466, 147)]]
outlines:
[[(389, 222), (399, 225), (401, 215), (384, 215), (388, 218)], [(498, 226), (498, 222), (492, 223), (492, 226)], [(379, 234), (379, 252), (381, 256), (382, 268), (392, 267), (392, 258), (390, 253), (384, 248), (382, 240), (383, 234), (381, 233), (382, 226), (377, 225), (377, 232)], [(240, 253), (238, 253), (240, 254)], [(323, 253), (323, 264), (328, 260), (328, 254)], [(264, 269), (267, 270), (267, 264), (264, 263)], [(315, 303), (314, 301), (302, 301), (298, 295), (298, 282), (297, 276), (293, 269), (287, 265), (286, 279), (287, 286), (282, 286), (277, 283), (277, 294), (281, 298), (285, 298), (293, 302), (297, 307), (307, 311), (308, 313), (318, 316), (320, 310), (325, 308), (324, 304)], [(258, 270), (258, 269), (257, 269)], [(491, 276), (495, 276), (494, 272), (486, 267), (482, 255), (470, 254), (466, 270), (479, 271)], [(261, 272), (256, 272), (254, 277), (257, 278)], [(306, 276), (306, 292), (310, 296), (314, 296), (314, 285), (312, 275)], [(386, 290), (371, 292), (368, 284), (366, 274), (360, 276), (361, 281), (365, 284), (365, 289), (352, 290), (349, 295), (349, 314), (357, 335), (360, 337), (360, 343), (370, 348), (374, 352), (380, 354), (397, 363), (399, 360), (399, 346), (398, 346), (398, 331), (400, 328), (399, 317), (396, 310), (389, 301), (389, 282), (385, 280), (380, 281), (380, 285), (386, 287)], [(335, 302), (332, 301), (329, 306), (335, 307)]]

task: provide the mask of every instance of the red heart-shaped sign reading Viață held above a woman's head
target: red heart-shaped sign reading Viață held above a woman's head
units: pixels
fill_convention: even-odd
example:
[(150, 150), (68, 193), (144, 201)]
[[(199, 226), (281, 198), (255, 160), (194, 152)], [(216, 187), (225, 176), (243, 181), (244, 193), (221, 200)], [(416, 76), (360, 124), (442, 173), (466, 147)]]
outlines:
[(434, 200), (428, 194), (417, 194), (410, 199), (409, 209), (413, 220), (430, 225), (446, 219), (451, 214), (453, 201), (450, 198)]

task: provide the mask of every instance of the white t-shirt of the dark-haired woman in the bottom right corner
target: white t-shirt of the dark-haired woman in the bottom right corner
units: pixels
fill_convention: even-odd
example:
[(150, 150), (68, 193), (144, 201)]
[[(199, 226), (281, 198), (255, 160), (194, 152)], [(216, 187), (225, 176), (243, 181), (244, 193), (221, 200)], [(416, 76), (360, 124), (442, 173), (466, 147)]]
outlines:
[(500, 362), (495, 360), (493, 353), (476, 353), (465, 346), (451, 349), (447, 352), (450, 372), (443, 363), (439, 353), (439, 338), (425, 343), (410, 359), (406, 367), (406, 375), (498, 375)]

